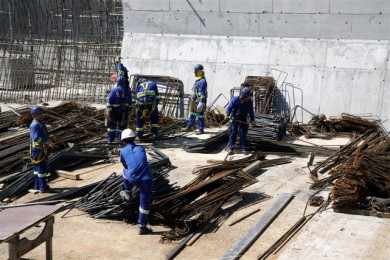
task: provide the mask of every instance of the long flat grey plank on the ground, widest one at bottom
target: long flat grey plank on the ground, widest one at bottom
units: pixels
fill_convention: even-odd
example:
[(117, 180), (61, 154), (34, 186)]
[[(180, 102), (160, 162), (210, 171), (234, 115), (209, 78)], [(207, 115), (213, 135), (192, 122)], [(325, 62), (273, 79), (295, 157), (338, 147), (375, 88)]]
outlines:
[(268, 228), (276, 217), (294, 198), (293, 194), (283, 193), (279, 196), (272, 207), (264, 213), (254, 227), (248, 233), (242, 236), (226, 253), (222, 256), (222, 260), (239, 259), (250, 246), (260, 237), (261, 234)]

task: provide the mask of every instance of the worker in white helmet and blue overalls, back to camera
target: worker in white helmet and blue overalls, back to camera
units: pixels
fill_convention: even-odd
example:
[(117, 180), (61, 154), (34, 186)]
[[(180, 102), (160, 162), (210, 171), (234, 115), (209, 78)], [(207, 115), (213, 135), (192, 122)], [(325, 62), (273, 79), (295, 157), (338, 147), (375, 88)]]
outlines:
[(136, 134), (131, 129), (122, 132), (121, 141), (124, 147), (120, 150), (123, 165), (123, 190), (120, 196), (125, 201), (131, 200), (133, 186), (140, 192), (138, 225), (139, 234), (151, 233), (147, 227), (150, 205), (152, 200), (152, 174), (146, 157), (145, 148), (134, 143)]

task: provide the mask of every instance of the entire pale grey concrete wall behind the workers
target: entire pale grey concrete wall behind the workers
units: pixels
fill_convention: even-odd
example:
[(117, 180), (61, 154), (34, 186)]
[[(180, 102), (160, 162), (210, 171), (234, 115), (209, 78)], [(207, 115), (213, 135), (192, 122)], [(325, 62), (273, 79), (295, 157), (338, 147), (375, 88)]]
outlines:
[(206, 28), (185, 0), (124, 0), (122, 56), (131, 73), (175, 76), (190, 92), (193, 65), (202, 63), (213, 99), (248, 75), (278, 77), (277, 69), (315, 113), (390, 118), (390, 1), (191, 2)]

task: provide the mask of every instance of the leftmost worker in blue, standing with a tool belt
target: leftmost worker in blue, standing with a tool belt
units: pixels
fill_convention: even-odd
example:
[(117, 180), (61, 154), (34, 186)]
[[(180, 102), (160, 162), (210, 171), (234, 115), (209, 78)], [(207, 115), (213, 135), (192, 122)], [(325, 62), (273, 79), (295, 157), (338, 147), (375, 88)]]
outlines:
[(47, 167), (49, 135), (46, 125), (43, 123), (42, 113), (41, 107), (32, 107), (33, 121), (30, 125), (30, 154), (34, 174), (34, 191), (41, 193), (49, 190), (47, 185), (47, 177), (49, 177)]

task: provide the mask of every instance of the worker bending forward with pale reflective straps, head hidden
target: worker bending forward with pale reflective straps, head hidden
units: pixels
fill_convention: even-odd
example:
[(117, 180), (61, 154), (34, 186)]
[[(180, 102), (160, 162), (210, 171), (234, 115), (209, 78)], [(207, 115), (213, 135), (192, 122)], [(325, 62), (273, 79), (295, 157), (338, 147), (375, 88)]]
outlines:
[(151, 132), (154, 136), (158, 135), (160, 115), (158, 103), (160, 100), (158, 87), (155, 81), (140, 80), (136, 87), (136, 119), (135, 126), (139, 138), (144, 134), (144, 123), (150, 120)]

